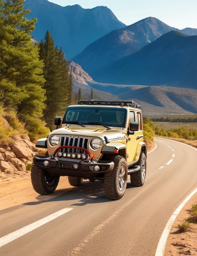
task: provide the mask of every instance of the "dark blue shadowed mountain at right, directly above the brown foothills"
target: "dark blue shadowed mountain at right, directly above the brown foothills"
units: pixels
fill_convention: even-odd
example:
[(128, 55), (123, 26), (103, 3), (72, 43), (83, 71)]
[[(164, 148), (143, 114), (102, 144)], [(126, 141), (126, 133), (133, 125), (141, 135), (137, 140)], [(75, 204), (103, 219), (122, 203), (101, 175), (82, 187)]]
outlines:
[[(197, 36), (170, 31), (92, 74), (101, 83), (197, 88)], [(102, 76), (101, 76), (102, 74)]]

